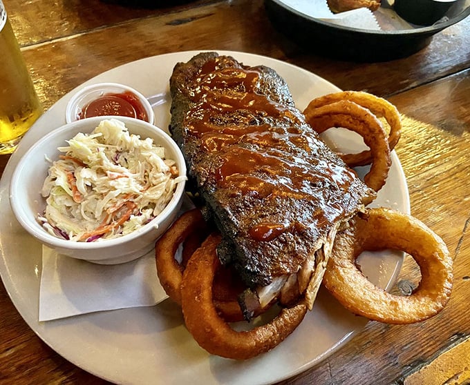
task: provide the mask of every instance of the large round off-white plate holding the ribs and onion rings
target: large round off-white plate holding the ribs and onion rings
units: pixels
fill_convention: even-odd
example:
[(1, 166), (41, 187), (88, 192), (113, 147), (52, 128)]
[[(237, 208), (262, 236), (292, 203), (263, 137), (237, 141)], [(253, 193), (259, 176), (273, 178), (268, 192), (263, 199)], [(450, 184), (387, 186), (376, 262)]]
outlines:
[[(134, 61), (104, 72), (82, 86), (113, 81), (128, 84), (147, 97), (160, 95), (153, 98), (156, 125), (167, 128), (171, 71), (175, 63), (187, 61), (195, 53), (179, 52)], [(320, 77), (288, 63), (241, 52), (220, 53), (246, 64), (274, 68), (290, 85), (301, 109), (310, 99), (338, 90)], [(57, 101), (31, 128), (10, 158), (0, 181), (0, 275), (19, 313), (46, 344), (84, 370), (120, 384), (270, 384), (318, 364), (364, 328), (365, 319), (348, 313), (325, 290), (320, 291), (314, 310), (285, 342), (270, 353), (245, 362), (214, 357), (199, 348), (187, 332), (180, 310), (168, 302), (155, 307), (38, 322), (41, 246), (12, 214), (8, 185), (12, 170), (26, 149), (44, 132), (65, 123), (66, 104), (75, 91)], [(358, 145), (348, 132), (331, 136), (343, 147)], [(406, 180), (395, 152), (388, 182), (375, 205), (409, 213)], [(361, 257), (366, 274), (382, 287), (393, 282), (401, 262), (401, 253)]]

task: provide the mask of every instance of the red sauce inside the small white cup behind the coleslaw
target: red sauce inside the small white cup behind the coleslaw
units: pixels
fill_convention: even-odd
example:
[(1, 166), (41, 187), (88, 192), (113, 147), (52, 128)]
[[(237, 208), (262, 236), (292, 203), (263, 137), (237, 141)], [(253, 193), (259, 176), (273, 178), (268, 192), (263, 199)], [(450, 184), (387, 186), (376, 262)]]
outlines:
[(88, 103), (78, 112), (78, 119), (116, 115), (147, 121), (147, 111), (132, 92), (108, 93)]

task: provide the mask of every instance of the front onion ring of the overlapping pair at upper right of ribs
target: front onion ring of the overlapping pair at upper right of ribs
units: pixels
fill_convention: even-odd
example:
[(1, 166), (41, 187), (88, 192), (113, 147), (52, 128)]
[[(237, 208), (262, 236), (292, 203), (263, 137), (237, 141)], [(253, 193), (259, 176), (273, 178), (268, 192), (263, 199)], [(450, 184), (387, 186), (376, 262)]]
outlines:
[(343, 127), (361, 135), (372, 156), (372, 165), (364, 182), (375, 191), (384, 186), (392, 161), (386, 133), (375, 115), (353, 101), (341, 100), (309, 110), (306, 112), (306, 120), (319, 132)]

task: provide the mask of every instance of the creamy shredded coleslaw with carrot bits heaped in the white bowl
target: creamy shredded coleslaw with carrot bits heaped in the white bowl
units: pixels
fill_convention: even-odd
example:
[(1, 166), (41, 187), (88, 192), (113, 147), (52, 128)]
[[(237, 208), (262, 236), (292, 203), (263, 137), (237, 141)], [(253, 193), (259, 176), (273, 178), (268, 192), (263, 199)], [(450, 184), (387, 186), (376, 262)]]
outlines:
[(67, 143), (48, 170), (41, 190), (46, 209), (38, 217), (57, 237), (96, 241), (129, 234), (161, 213), (186, 179), (163, 147), (130, 134), (117, 119)]

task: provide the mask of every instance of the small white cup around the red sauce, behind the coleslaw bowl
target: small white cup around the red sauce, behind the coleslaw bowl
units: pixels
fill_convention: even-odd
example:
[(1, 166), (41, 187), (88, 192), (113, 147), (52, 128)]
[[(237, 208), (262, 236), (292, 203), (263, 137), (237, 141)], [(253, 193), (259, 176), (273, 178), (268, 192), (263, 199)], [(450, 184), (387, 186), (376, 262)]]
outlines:
[[(94, 101), (100, 97), (103, 97), (107, 94), (123, 94), (124, 92), (130, 92), (134, 97), (140, 101), (140, 104), (144, 108), (147, 121), (153, 124), (155, 116), (153, 113), (152, 106), (144, 95), (142, 95), (138, 90), (126, 86), (120, 83), (96, 83), (91, 86), (86, 86), (77, 92), (71, 97), (70, 101), (67, 103), (65, 119), (67, 123), (71, 123), (79, 119), (80, 112), (86, 107), (88, 103)], [(83, 118), (82, 118), (83, 119)]]

